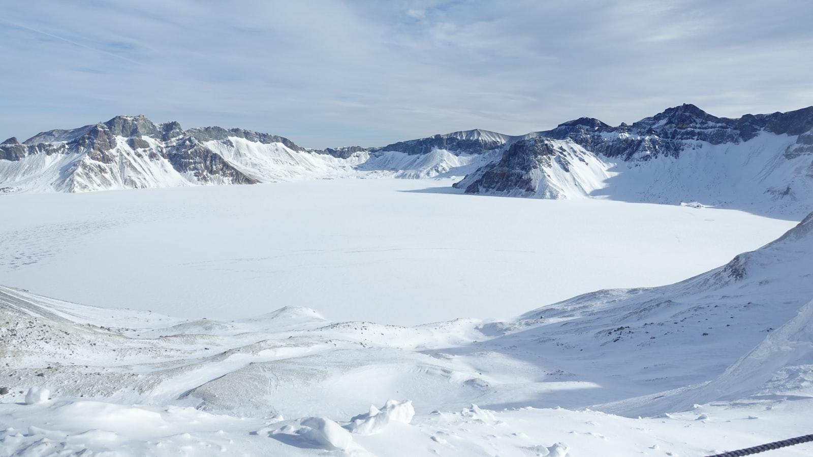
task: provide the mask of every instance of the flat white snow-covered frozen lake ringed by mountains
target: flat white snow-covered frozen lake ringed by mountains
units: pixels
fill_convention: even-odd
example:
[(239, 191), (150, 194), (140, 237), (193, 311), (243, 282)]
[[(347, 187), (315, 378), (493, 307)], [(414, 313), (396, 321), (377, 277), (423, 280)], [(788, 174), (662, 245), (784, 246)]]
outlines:
[(452, 194), (336, 180), (0, 197), (3, 285), (233, 320), (509, 318), (596, 289), (668, 284), (793, 227), (741, 211)]

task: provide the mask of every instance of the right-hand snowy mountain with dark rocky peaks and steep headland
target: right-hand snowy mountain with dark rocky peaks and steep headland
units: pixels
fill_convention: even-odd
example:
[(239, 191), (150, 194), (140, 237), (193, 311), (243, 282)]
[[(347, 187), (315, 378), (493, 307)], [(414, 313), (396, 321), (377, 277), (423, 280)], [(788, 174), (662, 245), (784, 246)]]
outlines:
[(498, 162), (455, 186), (467, 194), (803, 215), (813, 204), (811, 143), (813, 107), (727, 119), (683, 105), (632, 125), (590, 118), (560, 124), (516, 141)]

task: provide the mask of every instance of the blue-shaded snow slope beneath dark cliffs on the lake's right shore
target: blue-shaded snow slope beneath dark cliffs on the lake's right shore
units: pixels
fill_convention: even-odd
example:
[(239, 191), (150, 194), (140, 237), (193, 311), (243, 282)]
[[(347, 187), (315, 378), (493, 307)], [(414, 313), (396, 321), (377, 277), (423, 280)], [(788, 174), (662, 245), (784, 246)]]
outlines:
[[(679, 158), (610, 161), (614, 174), (592, 196), (632, 202), (735, 207), (758, 214), (809, 211), (813, 155), (783, 154), (796, 137), (762, 133), (737, 144), (695, 141)], [(724, 185), (722, 184), (724, 183)]]

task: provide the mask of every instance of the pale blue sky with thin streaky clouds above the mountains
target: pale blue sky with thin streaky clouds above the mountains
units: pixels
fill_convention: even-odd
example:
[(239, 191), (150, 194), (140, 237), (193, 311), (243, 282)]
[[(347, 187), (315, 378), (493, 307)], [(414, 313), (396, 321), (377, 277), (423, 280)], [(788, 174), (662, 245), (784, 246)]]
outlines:
[(300, 146), (813, 105), (813, 2), (0, 0), (0, 140), (115, 115)]

